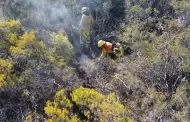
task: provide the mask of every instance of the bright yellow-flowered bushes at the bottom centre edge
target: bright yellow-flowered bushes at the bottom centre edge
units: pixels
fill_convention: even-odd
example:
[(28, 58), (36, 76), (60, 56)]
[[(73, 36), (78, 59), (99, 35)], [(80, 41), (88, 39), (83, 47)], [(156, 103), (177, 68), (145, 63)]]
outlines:
[(126, 121), (124, 106), (115, 94), (105, 96), (93, 89), (80, 87), (70, 95), (71, 98), (65, 96), (65, 91), (61, 89), (56, 93), (54, 102), (47, 102), (44, 108), (47, 121), (82, 121), (81, 116), (75, 113), (77, 111), (72, 111), (76, 105), (80, 108), (78, 112), (85, 116), (85, 121)]

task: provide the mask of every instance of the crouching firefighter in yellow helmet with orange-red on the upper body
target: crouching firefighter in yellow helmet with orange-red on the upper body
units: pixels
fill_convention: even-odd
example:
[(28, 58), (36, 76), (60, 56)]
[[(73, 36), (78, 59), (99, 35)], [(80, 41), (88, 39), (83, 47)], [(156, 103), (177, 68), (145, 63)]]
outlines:
[(112, 44), (103, 40), (98, 41), (98, 47), (102, 48), (100, 57), (110, 56), (111, 58), (120, 58), (124, 55), (124, 50), (120, 43)]

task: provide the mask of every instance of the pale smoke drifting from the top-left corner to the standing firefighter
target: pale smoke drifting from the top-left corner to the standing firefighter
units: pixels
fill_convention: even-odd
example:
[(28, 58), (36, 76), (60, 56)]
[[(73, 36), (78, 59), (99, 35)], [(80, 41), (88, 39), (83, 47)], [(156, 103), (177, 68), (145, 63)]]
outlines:
[(26, 28), (63, 29), (77, 26), (80, 6), (72, 0), (7, 0), (0, 3), (0, 17), (19, 19)]

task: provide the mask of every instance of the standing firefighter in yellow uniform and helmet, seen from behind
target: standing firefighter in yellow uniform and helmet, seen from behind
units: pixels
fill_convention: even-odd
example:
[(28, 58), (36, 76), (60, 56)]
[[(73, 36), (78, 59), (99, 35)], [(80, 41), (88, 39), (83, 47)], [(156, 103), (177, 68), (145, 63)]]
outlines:
[(82, 8), (82, 18), (80, 21), (80, 43), (82, 44), (84, 41), (90, 41), (91, 30), (94, 24), (94, 19), (90, 15), (89, 8)]

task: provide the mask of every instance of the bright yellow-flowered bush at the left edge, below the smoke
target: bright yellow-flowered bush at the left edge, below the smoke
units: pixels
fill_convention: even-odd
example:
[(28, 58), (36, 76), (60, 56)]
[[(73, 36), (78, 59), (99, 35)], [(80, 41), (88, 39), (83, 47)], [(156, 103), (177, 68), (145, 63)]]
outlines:
[[(45, 44), (36, 38), (36, 34), (37, 31), (24, 32), (18, 20), (0, 20), (0, 55), (9, 57), (13, 67), (13, 72), (6, 75), (9, 85), (24, 82), (19, 78), (27, 69), (27, 62), (30, 59), (39, 60), (45, 55)], [(17, 71), (18, 69), (22, 72)], [(3, 77), (5, 78), (5, 75), (1, 75), (1, 80)]]

